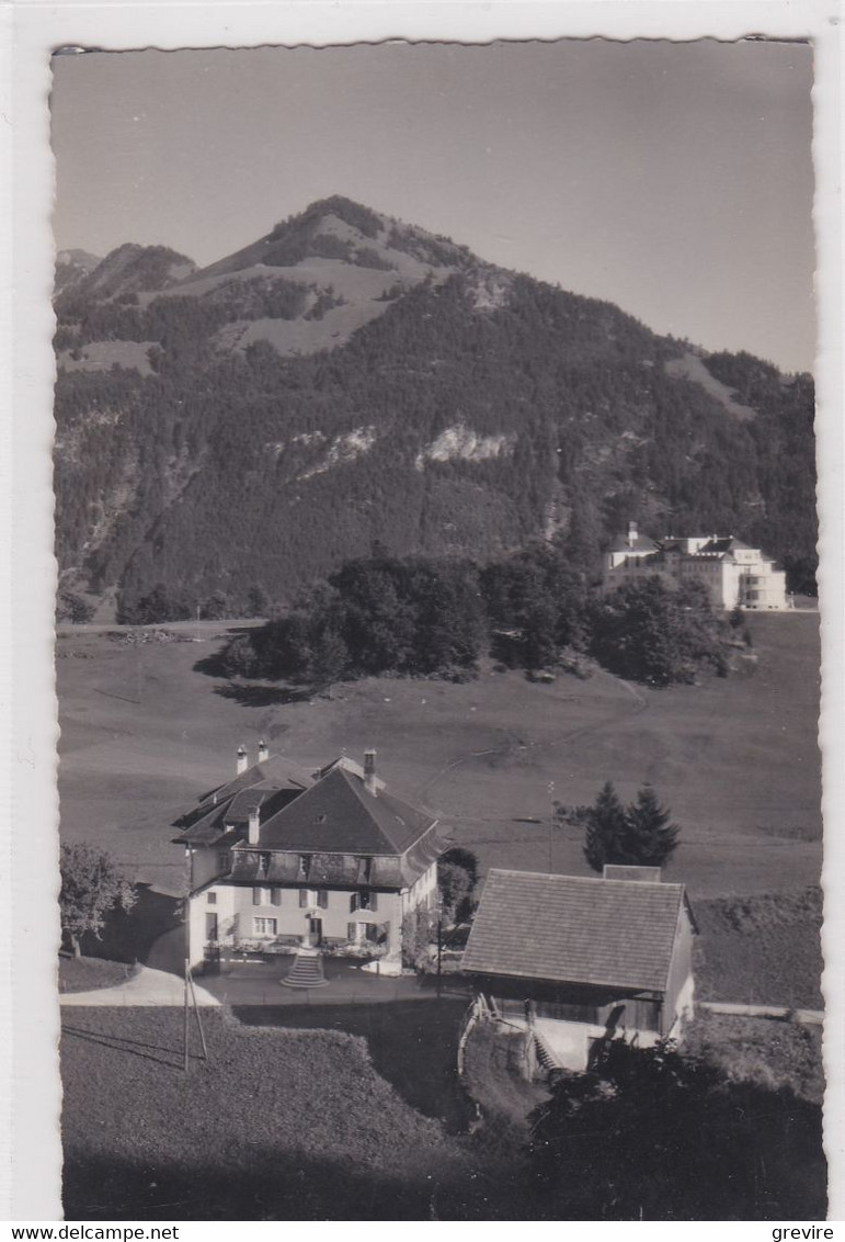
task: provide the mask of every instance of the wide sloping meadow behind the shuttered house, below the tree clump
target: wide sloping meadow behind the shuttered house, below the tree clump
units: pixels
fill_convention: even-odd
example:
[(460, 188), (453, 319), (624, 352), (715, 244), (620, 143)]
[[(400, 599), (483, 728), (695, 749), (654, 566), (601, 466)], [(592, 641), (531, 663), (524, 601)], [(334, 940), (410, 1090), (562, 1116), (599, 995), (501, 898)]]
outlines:
[[(756, 661), (700, 686), (653, 691), (607, 673), (540, 686), (485, 666), (463, 686), (370, 678), (302, 702), (279, 687), (197, 671), (222, 645), (222, 623), (205, 625), (199, 642), (66, 631), (57, 645), (62, 832), (175, 891), (184, 861), (170, 822), (233, 774), (238, 743), (254, 755), (264, 737), (273, 753), (313, 766), (377, 748), (391, 789), (436, 810), (483, 871), (588, 874), (577, 831), (552, 826), (552, 801), (592, 801), (606, 780), (629, 799), (648, 780), (682, 830), (666, 878), (685, 882), (694, 904), (794, 898), (818, 884), (821, 866), (818, 615), (748, 623)], [(172, 628), (184, 640), (197, 632)], [(521, 822), (531, 818), (540, 822)], [(759, 928), (713, 918), (702, 919), (710, 974), (740, 960), (732, 945), (744, 945), (751, 968), (728, 980), (741, 995), (722, 997), (744, 1000)], [(785, 981), (772, 976), (772, 994), (756, 1000), (810, 1004), (816, 927), (799, 912), (793, 930), (778, 933), (807, 949), (789, 958)]]

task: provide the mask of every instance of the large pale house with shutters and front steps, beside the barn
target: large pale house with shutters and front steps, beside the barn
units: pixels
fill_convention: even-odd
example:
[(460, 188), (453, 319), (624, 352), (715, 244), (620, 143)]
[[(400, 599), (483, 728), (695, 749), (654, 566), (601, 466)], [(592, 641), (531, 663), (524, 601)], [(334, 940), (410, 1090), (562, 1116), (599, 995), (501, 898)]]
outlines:
[(437, 818), (390, 794), (376, 753), (315, 773), (270, 759), (249, 765), (176, 821), (189, 867), (191, 965), (218, 948), (380, 945), (402, 951), (407, 914), (433, 909)]

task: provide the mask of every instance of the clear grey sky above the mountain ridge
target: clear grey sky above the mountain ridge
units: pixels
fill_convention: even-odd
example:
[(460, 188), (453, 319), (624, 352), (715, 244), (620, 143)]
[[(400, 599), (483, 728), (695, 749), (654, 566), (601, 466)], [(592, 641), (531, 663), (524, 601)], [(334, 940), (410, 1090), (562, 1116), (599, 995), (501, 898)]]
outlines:
[(811, 50), (562, 40), (53, 57), (57, 248), (200, 265), (342, 194), (810, 370)]

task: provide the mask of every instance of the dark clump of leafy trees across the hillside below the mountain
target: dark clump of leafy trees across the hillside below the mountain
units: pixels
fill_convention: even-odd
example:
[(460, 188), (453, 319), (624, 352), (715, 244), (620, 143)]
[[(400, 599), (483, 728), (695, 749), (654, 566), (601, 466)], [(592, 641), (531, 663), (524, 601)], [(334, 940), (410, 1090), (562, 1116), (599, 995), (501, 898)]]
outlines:
[(479, 566), (391, 556), (347, 561), (284, 615), (236, 637), (228, 676), (326, 683), (380, 673), (473, 677), (484, 655), (529, 673), (589, 660), (651, 686), (726, 673), (728, 625), (697, 582), (656, 576), (609, 595), (560, 548), (534, 544)]

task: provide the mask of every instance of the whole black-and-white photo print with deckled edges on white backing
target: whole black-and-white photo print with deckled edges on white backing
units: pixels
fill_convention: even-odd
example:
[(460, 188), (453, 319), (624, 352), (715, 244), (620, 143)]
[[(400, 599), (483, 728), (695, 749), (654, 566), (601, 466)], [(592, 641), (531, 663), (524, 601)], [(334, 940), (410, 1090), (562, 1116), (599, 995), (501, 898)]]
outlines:
[(50, 68), (65, 1218), (824, 1221), (811, 42)]

